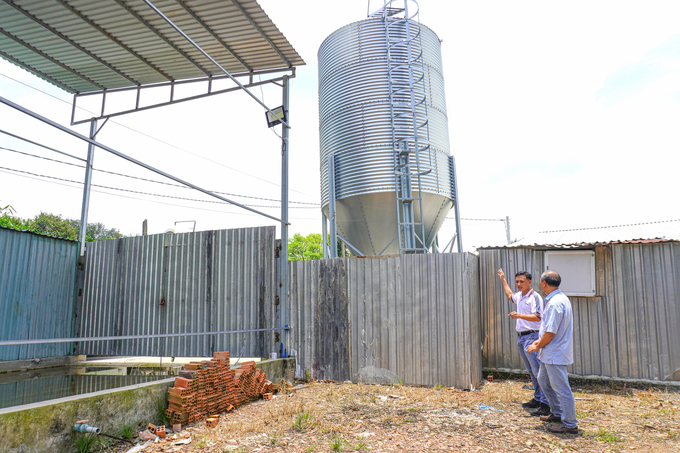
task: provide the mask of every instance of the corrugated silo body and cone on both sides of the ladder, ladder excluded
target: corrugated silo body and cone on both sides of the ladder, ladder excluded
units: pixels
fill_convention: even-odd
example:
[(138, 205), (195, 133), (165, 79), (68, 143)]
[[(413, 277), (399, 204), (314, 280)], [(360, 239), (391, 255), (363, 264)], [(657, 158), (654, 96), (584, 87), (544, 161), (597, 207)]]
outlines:
[[(429, 28), (416, 26), (421, 29), (427, 98), (418, 107), (418, 115), (429, 120), (429, 134), (425, 131), (428, 136), (421, 139), (430, 144), (420, 161), (432, 170), (421, 180), (429, 247), (453, 206), (454, 194), (440, 41)], [(391, 37), (394, 33), (395, 28), (390, 30)], [(323, 42), (318, 56), (322, 209), (328, 216), (328, 157), (333, 154), (338, 233), (362, 253), (377, 255), (399, 231), (383, 20), (371, 18), (335, 31)], [(414, 214), (420, 221), (420, 208), (415, 204)], [(398, 241), (383, 252), (397, 253)]]

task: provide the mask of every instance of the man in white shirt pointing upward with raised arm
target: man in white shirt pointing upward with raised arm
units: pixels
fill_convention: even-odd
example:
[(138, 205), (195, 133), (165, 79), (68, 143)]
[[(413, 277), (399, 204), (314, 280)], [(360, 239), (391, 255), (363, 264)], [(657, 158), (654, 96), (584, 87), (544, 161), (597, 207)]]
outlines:
[(503, 269), (498, 269), (498, 276), (503, 283), (503, 291), (508, 300), (517, 306), (517, 309), (508, 314), (508, 316), (517, 320), (515, 326), (517, 330), (517, 348), (524, 362), (524, 367), (531, 376), (531, 383), (534, 385), (534, 398), (531, 401), (522, 403), (522, 406), (527, 409), (536, 409), (531, 413), (535, 417), (549, 415), (550, 405), (538, 382), (538, 372), (540, 370), (538, 354), (527, 351), (529, 346), (538, 340), (541, 318), (543, 317), (543, 299), (531, 288), (530, 273), (520, 271), (515, 274), (516, 293), (512, 292), (510, 285), (505, 280)]

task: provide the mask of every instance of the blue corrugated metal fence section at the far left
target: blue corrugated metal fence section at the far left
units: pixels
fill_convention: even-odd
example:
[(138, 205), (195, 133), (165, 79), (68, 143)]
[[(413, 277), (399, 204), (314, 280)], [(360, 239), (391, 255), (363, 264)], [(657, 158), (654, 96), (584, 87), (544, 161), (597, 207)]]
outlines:
[[(78, 243), (0, 228), (0, 340), (73, 336)], [(0, 347), (0, 360), (68, 355), (69, 343)]]

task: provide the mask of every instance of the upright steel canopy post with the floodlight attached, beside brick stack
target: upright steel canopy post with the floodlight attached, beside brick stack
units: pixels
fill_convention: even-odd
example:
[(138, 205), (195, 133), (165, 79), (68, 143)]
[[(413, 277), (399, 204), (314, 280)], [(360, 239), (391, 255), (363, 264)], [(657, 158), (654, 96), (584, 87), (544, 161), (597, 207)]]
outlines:
[[(288, 113), (289, 89), (288, 76), (283, 77), (283, 111)], [(288, 116), (290, 123), (290, 115)], [(288, 123), (288, 124), (289, 124)], [(285, 328), (283, 338), (281, 338), (280, 354), (281, 357), (288, 357), (288, 133), (290, 126), (281, 123), (281, 252), (279, 259), (281, 262), (281, 272), (279, 273), (279, 327)]]

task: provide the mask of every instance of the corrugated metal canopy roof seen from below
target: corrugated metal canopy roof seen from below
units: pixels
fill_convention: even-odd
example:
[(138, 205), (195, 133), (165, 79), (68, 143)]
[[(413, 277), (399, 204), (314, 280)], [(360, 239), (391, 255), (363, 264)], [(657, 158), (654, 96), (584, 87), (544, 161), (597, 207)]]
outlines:
[[(152, 0), (228, 72), (304, 65), (256, 0)], [(0, 56), (70, 93), (223, 75), (143, 0), (0, 0)]]

